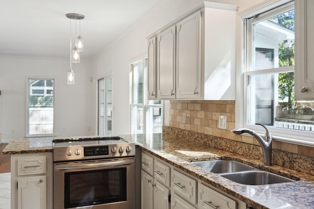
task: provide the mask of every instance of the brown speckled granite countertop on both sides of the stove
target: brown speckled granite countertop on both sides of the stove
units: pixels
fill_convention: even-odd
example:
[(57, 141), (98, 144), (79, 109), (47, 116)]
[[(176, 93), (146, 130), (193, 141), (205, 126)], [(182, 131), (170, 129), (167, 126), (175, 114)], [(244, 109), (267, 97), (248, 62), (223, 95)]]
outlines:
[[(142, 150), (234, 196), (254, 208), (314, 208), (314, 176), (312, 175), (277, 165), (264, 166), (262, 161), (220, 149), (205, 147), (200, 143), (179, 137), (162, 134), (146, 136), (121, 135), (121, 137), (135, 142), (136, 146)], [(2, 151), (3, 154), (35, 152), (52, 152), (52, 138), (15, 139)], [(191, 163), (218, 159), (236, 160), (299, 181), (262, 186), (242, 185)]]

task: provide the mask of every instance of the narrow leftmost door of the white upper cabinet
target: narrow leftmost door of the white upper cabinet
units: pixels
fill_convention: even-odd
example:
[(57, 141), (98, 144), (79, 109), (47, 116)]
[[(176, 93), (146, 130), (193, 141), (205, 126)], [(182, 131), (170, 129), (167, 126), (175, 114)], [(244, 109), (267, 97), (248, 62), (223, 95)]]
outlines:
[(156, 98), (156, 37), (148, 41), (148, 98)]

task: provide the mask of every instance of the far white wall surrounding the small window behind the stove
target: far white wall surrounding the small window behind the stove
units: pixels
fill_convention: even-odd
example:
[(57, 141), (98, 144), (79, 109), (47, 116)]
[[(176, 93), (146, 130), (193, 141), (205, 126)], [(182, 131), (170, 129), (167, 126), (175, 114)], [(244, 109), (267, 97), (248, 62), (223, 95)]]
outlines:
[(24, 138), (26, 79), (55, 79), (55, 133), (57, 136), (94, 135), (94, 97), (91, 64), (74, 64), (75, 85), (67, 85), (68, 59), (0, 57), (0, 133), (2, 142)]

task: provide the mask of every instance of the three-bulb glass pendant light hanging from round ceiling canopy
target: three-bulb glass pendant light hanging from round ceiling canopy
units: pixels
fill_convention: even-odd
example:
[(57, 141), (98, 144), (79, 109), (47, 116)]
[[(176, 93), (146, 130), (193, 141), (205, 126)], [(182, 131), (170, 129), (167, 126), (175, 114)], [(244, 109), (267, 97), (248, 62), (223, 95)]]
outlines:
[[(85, 16), (76, 13), (66, 14), (67, 18), (70, 19), (70, 70), (68, 71), (67, 84), (74, 84), (74, 70), (72, 69), (72, 63), (79, 63), (79, 52), (83, 51), (83, 37), (80, 35), (80, 20), (84, 19)], [(76, 39), (75, 47), (72, 49), (72, 20), (75, 20), (75, 37), (77, 37), (77, 20), (79, 20), (79, 36)]]

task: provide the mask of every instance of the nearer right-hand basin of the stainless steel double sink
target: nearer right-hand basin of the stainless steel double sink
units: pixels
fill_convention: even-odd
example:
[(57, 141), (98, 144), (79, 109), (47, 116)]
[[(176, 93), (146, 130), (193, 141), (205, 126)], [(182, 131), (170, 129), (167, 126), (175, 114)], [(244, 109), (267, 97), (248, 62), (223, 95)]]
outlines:
[(231, 181), (243, 185), (267, 185), (284, 182), (294, 182), (294, 180), (292, 179), (288, 179), (286, 177), (262, 170), (225, 173), (220, 174), (220, 176), (223, 176)]

